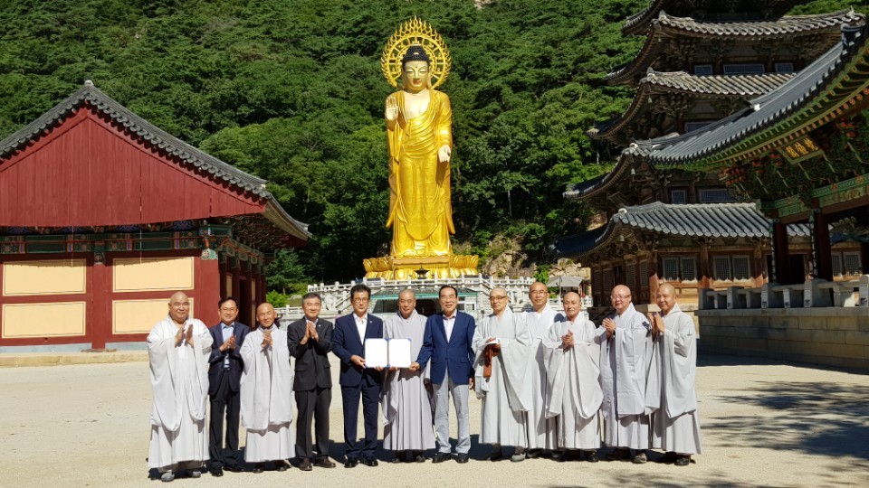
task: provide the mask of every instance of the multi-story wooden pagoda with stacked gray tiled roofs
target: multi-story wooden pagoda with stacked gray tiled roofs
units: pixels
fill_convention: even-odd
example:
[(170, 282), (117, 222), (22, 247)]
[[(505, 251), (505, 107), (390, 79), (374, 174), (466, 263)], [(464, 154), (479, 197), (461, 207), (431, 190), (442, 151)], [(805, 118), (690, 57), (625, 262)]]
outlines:
[[(786, 15), (794, 4), (656, 0), (627, 19), (623, 33), (645, 34), (645, 43), (607, 80), (635, 87), (635, 98), (624, 114), (588, 131), (624, 149), (610, 173), (565, 192), (606, 214), (608, 224), (556, 244), (559, 255), (594, 263), (596, 305), (608, 305), (617, 284), (635, 290), (635, 303), (648, 303), (667, 281), (694, 308), (700, 288), (769, 278), (769, 221), (736, 203), (718, 172), (654, 164), (647, 156), (656, 145), (646, 141), (666, 145), (750, 108), (839, 43), (843, 25), (864, 22), (853, 10)], [(795, 249), (809, 252), (804, 226), (788, 234)]]

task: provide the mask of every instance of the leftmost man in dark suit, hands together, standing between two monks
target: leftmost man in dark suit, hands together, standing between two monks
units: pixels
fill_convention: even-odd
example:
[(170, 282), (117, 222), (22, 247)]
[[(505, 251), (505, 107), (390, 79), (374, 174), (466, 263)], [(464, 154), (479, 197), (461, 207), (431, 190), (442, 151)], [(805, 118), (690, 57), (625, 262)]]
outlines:
[[(238, 412), (240, 408), (238, 383), (242, 377), (242, 349), (250, 327), (238, 323), (238, 303), (227, 296), (217, 303), (220, 324), (208, 329), (214, 338), (211, 357), (208, 358), (208, 397), (211, 400), (208, 468), (214, 476), (223, 476), (224, 467), (238, 473)], [(226, 416), (226, 446), (224, 444), (224, 412)]]

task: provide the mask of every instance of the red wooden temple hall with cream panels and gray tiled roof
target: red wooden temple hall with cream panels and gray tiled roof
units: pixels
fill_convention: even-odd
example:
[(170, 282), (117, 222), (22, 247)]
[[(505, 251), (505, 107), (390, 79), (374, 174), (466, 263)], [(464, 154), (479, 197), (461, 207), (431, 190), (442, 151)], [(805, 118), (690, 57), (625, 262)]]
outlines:
[(266, 183), (85, 82), (0, 141), (0, 352), (141, 348), (175, 291), (254, 324), (273, 252), (310, 238)]

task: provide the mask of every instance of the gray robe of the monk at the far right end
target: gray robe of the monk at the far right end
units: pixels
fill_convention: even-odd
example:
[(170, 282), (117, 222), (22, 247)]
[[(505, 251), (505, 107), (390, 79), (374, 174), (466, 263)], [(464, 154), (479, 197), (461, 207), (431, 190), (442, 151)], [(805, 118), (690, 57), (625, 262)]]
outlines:
[(700, 415), (694, 389), (697, 336), (694, 321), (675, 305), (654, 340), (646, 404), (653, 408), (652, 446), (682, 455), (700, 454)]

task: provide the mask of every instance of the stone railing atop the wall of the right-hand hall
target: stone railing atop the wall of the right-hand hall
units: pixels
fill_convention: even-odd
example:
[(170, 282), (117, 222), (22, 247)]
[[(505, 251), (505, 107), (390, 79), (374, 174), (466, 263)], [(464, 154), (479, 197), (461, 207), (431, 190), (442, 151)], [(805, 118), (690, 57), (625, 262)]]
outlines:
[(812, 279), (798, 285), (707, 288), (701, 290), (698, 305), (701, 310), (869, 306), (869, 275), (850, 281)]

